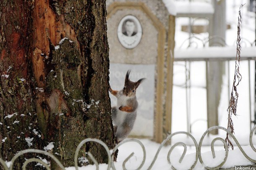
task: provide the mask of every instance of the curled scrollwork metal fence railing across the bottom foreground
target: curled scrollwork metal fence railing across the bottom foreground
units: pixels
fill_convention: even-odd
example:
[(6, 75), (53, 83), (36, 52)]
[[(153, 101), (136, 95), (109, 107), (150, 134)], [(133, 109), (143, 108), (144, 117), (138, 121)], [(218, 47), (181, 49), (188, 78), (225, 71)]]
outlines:
[[(79, 150), (81, 149), (81, 147), (82, 147), (86, 142), (97, 142), (97, 143), (99, 143), (100, 145), (102, 145), (102, 146), (105, 148), (105, 150), (106, 150), (106, 152), (107, 152), (107, 157), (108, 157), (108, 164), (107, 164), (108, 166), (107, 166), (107, 170), (110, 170), (111, 168), (112, 168), (113, 170), (116, 169), (116, 168), (115, 168), (115, 165), (114, 165), (114, 154), (115, 154), (115, 151), (118, 149), (118, 147), (120, 147), (120, 145), (123, 145), (123, 144), (126, 143), (126, 142), (137, 142), (137, 143), (141, 146), (141, 148), (142, 148), (142, 150), (143, 150), (143, 154), (144, 154), (143, 160), (142, 160), (140, 166), (139, 166), (137, 169), (140, 170), (140, 169), (143, 167), (143, 169), (151, 170), (152, 167), (153, 167), (153, 165), (154, 165), (154, 163), (155, 163), (155, 161), (156, 161), (156, 159), (157, 159), (157, 157), (158, 157), (158, 155), (159, 155), (160, 150), (162, 149), (162, 147), (163, 147), (164, 145), (166, 145), (167, 142), (170, 141), (170, 139), (171, 139), (173, 136), (175, 136), (175, 135), (177, 135), (177, 134), (186, 134), (186, 135), (188, 135), (188, 137), (190, 137), (190, 138), (193, 140), (194, 145), (195, 145), (195, 148), (196, 148), (195, 161), (193, 162), (193, 165), (191, 165), (191, 167), (189, 168), (189, 169), (193, 169), (193, 168), (196, 166), (196, 164), (198, 163), (198, 159), (199, 159), (200, 163), (201, 163), (202, 165), (204, 165), (204, 162), (203, 162), (202, 156), (201, 156), (202, 142), (203, 142), (204, 137), (206, 136), (206, 134), (207, 134), (209, 131), (214, 130), (214, 129), (221, 129), (221, 130), (224, 130), (225, 132), (227, 132), (227, 133), (230, 135), (230, 137), (232, 137), (232, 139), (234, 140), (234, 142), (235, 142), (236, 145), (238, 146), (239, 150), (240, 150), (240, 151), (243, 153), (243, 155), (246, 157), (246, 159), (249, 160), (249, 161), (251, 161), (251, 162), (253, 162), (253, 163), (256, 163), (256, 160), (253, 160), (251, 157), (249, 157), (249, 156), (244, 152), (244, 150), (243, 150), (243, 148), (240, 146), (238, 140), (235, 138), (235, 136), (234, 136), (230, 131), (227, 131), (227, 129), (224, 128), (224, 127), (214, 126), (214, 127), (210, 127), (209, 129), (207, 129), (207, 130), (204, 132), (204, 134), (203, 134), (202, 137), (201, 137), (201, 140), (199, 141), (199, 145), (197, 144), (195, 138), (194, 138), (191, 134), (189, 134), (188, 132), (175, 132), (175, 133), (173, 133), (173, 134), (170, 134), (170, 135), (162, 142), (162, 144), (161, 144), (160, 147), (158, 148), (158, 150), (157, 150), (157, 152), (156, 152), (156, 154), (155, 154), (155, 156), (154, 156), (154, 159), (153, 159), (153, 161), (152, 161), (152, 163), (150, 164), (149, 167), (143, 167), (143, 165), (144, 165), (144, 163), (145, 163), (145, 160), (146, 160), (146, 150), (145, 150), (144, 145), (143, 145), (139, 140), (136, 140), (136, 139), (127, 139), (127, 140), (124, 140), (123, 142), (120, 142), (118, 145), (116, 145), (113, 150), (110, 150), (110, 149), (107, 147), (107, 145), (106, 145), (104, 142), (102, 142), (101, 140), (88, 138), (88, 139), (83, 140), (83, 141), (78, 145), (78, 147), (77, 147), (77, 149), (76, 149), (75, 157), (74, 157), (75, 168), (76, 168), (76, 170), (78, 170), (78, 163), (77, 163), (77, 161), (78, 161), (78, 152), (79, 152)], [(251, 133), (250, 133), (250, 145), (251, 145), (252, 150), (256, 153), (256, 148), (253, 146), (253, 142), (252, 142), (252, 136), (253, 136), (253, 132), (254, 132), (255, 129), (256, 129), (256, 125), (253, 127), (253, 129), (251, 130)], [(223, 161), (222, 161), (219, 165), (217, 165), (217, 166), (215, 166), (215, 167), (207, 167), (206, 165), (204, 165), (204, 168), (207, 169), (207, 170), (217, 170), (217, 169), (220, 169), (220, 168), (222, 167), (222, 165), (224, 165), (224, 163), (225, 163), (226, 160), (227, 160), (227, 156), (228, 156), (228, 152), (229, 152), (228, 147), (227, 147), (227, 143), (225, 142), (224, 139), (222, 139), (222, 138), (220, 138), (220, 137), (216, 137), (216, 138), (214, 138), (214, 140), (212, 140), (212, 143), (211, 143), (212, 157), (215, 158), (215, 156), (216, 156), (216, 155), (215, 155), (215, 151), (214, 151), (214, 143), (215, 143), (216, 141), (221, 141), (221, 142), (223, 143), (224, 149), (225, 149), (225, 158), (223, 159)], [(170, 150), (169, 150), (169, 152), (168, 152), (168, 154), (167, 154), (167, 161), (168, 161), (168, 163), (170, 164), (170, 166), (172, 167), (172, 169), (174, 169), (174, 170), (175, 170), (176, 168), (171, 165), (170, 155), (171, 155), (172, 150), (173, 150), (175, 147), (177, 147), (178, 145), (184, 147), (184, 151), (183, 151), (182, 156), (180, 157), (179, 162), (186, 164), (186, 162), (182, 162), (182, 161), (183, 161), (183, 158), (185, 157), (185, 154), (186, 154), (186, 151), (187, 151), (187, 146), (186, 146), (186, 144), (183, 143), (183, 142), (177, 142), (177, 143), (175, 143), (174, 145), (172, 145), (172, 147), (170, 148)], [(12, 159), (10, 162), (8, 162), (8, 165), (7, 165), (6, 162), (5, 162), (4, 160), (2, 160), (2, 159), (0, 159), (0, 163), (3, 165), (4, 170), (12, 170), (12, 169), (13, 169), (13, 164), (14, 164), (15, 160), (16, 160), (19, 156), (24, 155), (25, 153), (28, 153), (28, 152), (33, 152), (33, 153), (39, 153), (39, 154), (46, 155), (46, 156), (50, 157), (50, 158), (52, 159), (52, 161), (55, 161), (55, 162), (57, 163), (57, 165), (60, 166), (61, 169), (63, 169), (63, 170), (65, 169), (65, 167), (61, 164), (61, 162), (60, 162), (54, 155), (52, 155), (52, 154), (49, 153), (49, 152), (42, 151), (42, 150), (36, 150), (36, 149), (28, 149), (28, 150), (23, 150), (23, 151), (21, 151), (21, 152), (18, 152), (18, 153), (13, 157), (13, 159)], [(90, 159), (94, 162), (94, 164), (96, 165), (96, 169), (98, 170), (98, 169), (99, 169), (99, 163), (97, 162), (97, 160), (94, 158), (94, 156), (93, 156), (90, 152), (87, 152), (86, 154), (87, 154), (87, 155), (90, 157)], [(124, 169), (124, 170), (126, 170), (126, 167), (125, 167), (126, 162), (127, 162), (128, 160), (130, 160), (130, 158), (131, 158), (133, 155), (134, 155), (134, 152), (132, 152), (132, 153), (124, 160), (124, 162), (123, 162), (123, 169)], [(46, 167), (47, 170), (50, 170), (49, 165), (47, 165), (45, 162), (43, 162), (42, 160), (37, 159), (37, 158), (31, 158), (31, 159), (26, 160), (26, 161), (24, 162), (24, 164), (23, 164), (22, 170), (26, 170), (26, 165), (28, 165), (30, 162), (38, 162), (38, 163), (42, 164), (44, 167)]]

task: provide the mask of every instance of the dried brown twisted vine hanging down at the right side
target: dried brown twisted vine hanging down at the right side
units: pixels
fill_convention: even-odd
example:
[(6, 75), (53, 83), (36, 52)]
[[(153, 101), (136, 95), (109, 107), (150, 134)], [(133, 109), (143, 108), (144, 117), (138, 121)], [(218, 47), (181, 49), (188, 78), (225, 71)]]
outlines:
[[(238, 15), (238, 37), (236, 40), (236, 57), (235, 57), (235, 75), (234, 75), (234, 81), (231, 91), (231, 97), (229, 102), (229, 107), (227, 108), (228, 111), (228, 122), (227, 122), (227, 130), (230, 131), (232, 134), (234, 133), (234, 124), (232, 121), (232, 114), (236, 116), (236, 108), (238, 103), (238, 92), (237, 92), (237, 86), (239, 82), (242, 80), (242, 76), (239, 72), (239, 66), (240, 66), (240, 52), (241, 52), (241, 37), (240, 37), (240, 23), (242, 23), (242, 16), (241, 16), (241, 8), (243, 5), (239, 8), (239, 15)], [(238, 62), (237, 62), (238, 61)], [(227, 137), (225, 139), (225, 142), (227, 143), (228, 147), (232, 147), (232, 150), (234, 149), (234, 146), (232, 145), (229, 135), (227, 133)]]

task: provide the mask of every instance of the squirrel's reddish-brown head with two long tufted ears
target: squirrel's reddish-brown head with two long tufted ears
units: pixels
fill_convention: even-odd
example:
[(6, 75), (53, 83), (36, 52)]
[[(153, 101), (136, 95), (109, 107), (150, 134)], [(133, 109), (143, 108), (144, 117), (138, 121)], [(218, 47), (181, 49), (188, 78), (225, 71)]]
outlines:
[(138, 88), (138, 86), (144, 81), (146, 80), (146, 78), (142, 78), (139, 79), (136, 82), (133, 82), (129, 79), (129, 75), (131, 73), (131, 70), (128, 70), (125, 76), (125, 85), (123, 87), (123, 94), (125, 96), (135, 96), (136, 95), (136, 89)]

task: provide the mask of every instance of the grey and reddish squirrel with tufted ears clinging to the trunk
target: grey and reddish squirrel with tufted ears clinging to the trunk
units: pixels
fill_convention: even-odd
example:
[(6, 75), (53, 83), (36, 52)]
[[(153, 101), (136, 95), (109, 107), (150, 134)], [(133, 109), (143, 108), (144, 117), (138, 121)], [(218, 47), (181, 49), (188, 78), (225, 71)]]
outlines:
[(112, 90), (109, 87), (110, 93), (117, 98), (117, 106), (112, 107), (112, 120), (118, 142), (124, 140), (133, 129), (138, 108), (136, 89), (145, 80), (142, 78), (136, 82), (130, 81), (130, 72), (131, 70), (128, 70), (126, 73), (125, 85), (122, 90)]

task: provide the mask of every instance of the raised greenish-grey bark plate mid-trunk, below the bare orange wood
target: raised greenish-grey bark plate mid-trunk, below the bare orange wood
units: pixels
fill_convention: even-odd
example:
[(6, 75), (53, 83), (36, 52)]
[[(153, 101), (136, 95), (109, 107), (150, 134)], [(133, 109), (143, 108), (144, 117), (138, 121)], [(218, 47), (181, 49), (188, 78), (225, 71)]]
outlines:
[(80, 78), (81, 53), (76, 43), (64, 39), (56, 48), (52, 45), (47, 60), (52, 68), (46, 77), (50, 112), (48, 140), (55, 142), (53, 153), (57, 153), (56, 156), (68, 166), (73, 164), (74, 151), (85, 137), (83, 114), (86, 104)]

